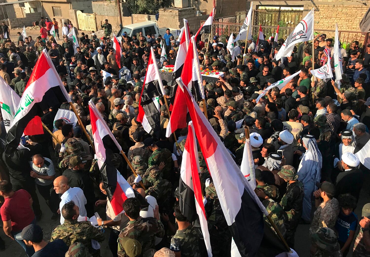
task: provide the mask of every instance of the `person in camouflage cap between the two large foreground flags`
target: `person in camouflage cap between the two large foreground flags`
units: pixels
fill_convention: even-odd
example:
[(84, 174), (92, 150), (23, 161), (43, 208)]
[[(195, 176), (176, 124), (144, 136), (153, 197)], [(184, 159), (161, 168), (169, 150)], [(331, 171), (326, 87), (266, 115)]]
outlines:
[(209, 236), (213, 256), (229, 256), (231, 233), (223, 215), (220, 201), (213, 182), (205, 188), (207, 203), (204, 206), (208, 217)]

